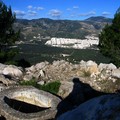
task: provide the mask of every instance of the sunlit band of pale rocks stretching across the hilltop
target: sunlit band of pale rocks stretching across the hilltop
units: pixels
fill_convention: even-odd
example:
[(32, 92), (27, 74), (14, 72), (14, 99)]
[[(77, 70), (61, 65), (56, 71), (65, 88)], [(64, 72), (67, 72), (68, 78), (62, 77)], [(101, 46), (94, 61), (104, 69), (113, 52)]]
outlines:
[[(33, 78), (42, 85), (55, 80), (59, 80), (61, 83), (65, 81), (64, 84), (67, 84), (67, 82), (72, 83), (72, 79), (79, 78), (80, 81), (89, 84), (96, 90), (115, 92), (120, 89), (119, 71), (120, 69), (112, 63), (100, 63), (98, 65), (91, 60), (82, 60), (79, 64), (72, 64), (64, 60), (54, 61), (53, 63), (45, 61), (32, 65), (29, 68), (25, 68), (24, 72), (20, 67), (0, 64), (0, 73), (3, 76), (0, 80), (3, 84), (9, 86), (11, 81), (29, 81)], [(63, 86), (65, 87), (65, 85)], [(70, 88), (72, 89), (72, 87)], [(66, 93), (63, 92), (62, 89), (62, 92), (59, 92), (59, 94), (64, 98), (69, 94), (69, 90), (68, 93)], [(65, 93), (66, 95), (62, 93)]]

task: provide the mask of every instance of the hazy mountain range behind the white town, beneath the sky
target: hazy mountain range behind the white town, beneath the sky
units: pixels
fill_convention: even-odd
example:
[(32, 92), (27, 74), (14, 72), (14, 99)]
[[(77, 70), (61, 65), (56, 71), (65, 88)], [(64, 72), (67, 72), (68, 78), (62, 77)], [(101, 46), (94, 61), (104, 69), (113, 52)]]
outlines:
[(84, 38), (86, 35), (98, 35), (102, 28), (112, 19), (105, 17), (90, 17), (86, 20), (52, 20), (40, 19), (17, 19), (14, 27), (21, 30), (22, 40), (31, 40), (42, 37)]

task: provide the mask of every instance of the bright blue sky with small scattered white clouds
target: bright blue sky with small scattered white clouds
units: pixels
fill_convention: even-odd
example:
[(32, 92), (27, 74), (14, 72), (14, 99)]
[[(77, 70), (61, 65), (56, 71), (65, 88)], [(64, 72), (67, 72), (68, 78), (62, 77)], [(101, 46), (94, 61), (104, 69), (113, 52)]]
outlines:
[(3, 0), (21, 19), (84, 20), (92, 16), (113, 18), (120, 0)]

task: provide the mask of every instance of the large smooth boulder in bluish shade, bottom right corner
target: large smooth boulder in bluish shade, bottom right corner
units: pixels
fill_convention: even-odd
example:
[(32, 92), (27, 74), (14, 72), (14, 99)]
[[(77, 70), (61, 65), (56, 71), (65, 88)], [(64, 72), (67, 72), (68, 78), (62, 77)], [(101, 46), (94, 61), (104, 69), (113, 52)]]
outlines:
[(57, 120), (120, 120), (120, 95), (91, 99)]

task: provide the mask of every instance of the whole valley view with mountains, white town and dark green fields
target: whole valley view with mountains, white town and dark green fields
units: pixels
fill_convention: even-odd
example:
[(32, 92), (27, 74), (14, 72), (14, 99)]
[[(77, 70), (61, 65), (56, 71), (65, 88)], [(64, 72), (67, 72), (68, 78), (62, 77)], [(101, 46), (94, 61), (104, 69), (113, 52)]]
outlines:
[(83, 21), (18, 19), (14, 28), (21, 31), (20, 41), (16, 43), (20, 54), (15, 59), (26, 59), (31, 64), (62, 59), (72, 63), (80, 60), (108, 63), (110, 59), (104, 57), (96, 46), (100, 31), (111, 21), (105, 17)]

